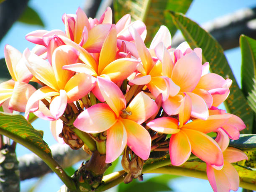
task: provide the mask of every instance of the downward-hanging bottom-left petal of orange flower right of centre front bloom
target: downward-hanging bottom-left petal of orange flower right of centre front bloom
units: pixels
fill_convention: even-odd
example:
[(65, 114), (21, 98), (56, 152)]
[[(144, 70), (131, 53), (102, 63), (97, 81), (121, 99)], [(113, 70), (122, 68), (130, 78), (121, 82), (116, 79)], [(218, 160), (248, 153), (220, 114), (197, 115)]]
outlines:
[(172, 134), (169, 143), (170, 159), (173, 165), (180, 166), (187, 161), (191, 154), (191, 144), (184, 131)]

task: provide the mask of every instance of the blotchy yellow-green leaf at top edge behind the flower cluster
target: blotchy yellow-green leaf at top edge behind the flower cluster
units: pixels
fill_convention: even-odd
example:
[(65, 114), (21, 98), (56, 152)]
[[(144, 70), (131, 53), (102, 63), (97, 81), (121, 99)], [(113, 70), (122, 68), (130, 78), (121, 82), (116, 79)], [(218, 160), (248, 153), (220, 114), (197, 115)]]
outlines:
[(129, 13), (132, 20), (142, 20), (147, 26), (145, 42), (151, 42), (161, 25), (169, 28), (174, 36), (177, 28), (172, 20), (165, 17), (165, 10), (186, 13), (192, 0), (115, 0), (115, 21)]

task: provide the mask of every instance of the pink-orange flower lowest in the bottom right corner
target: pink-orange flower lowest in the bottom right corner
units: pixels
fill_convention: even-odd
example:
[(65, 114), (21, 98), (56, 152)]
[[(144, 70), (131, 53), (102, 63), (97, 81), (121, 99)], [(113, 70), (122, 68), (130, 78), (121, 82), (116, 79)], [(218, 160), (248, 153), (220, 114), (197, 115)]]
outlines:
[(221, 170), (207, 164), (207, 177), (214, 192), (236, 191), (239, 187), (239, 176), (231, 163), (247, 159), (243, 151), (237, 148), (228, 147), (229, 138), (223, 129), (218, 129), (215, 141), (220, 145), (223, 152), (224, 165)]

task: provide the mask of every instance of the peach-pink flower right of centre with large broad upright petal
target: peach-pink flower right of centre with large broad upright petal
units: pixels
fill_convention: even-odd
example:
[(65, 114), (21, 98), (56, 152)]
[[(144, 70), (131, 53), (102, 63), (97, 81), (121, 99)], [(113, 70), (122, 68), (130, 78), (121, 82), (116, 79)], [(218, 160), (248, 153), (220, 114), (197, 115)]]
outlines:
[[(167, 93), (165, 92), (167, 98), (163, 97), (162, 107), (164, 111), (168, 115), (178, 114), (182, 99), (184, 94), (186, 94), (192, 101), (191, 116), (206, 120), (209, 113), (205, 100), (207, 103), (210, 102), (211, 104), (212, 97), (210, 93), (207, 93), (205, 90), (194, 92), (203, 71), (201, 59), (202, 50), (200, 48), (194, 51), (187, 49), (184, 55), (182, 54), (179, 58), (175, 56), (174, 59), (172, 59), (172, 53), (169, 53), (163, 43), (159, 43), (155, 50), (156, 56), (162, 63), (163, 75), (167, 82), (166, 87), (169, 88), (166, 89)], [(164, 89), (158, 89), (153, 92), (153, 94), (158, 95), (163, 93), (163, 90)], [(203, 96), (205, 100), (201, 96)]]

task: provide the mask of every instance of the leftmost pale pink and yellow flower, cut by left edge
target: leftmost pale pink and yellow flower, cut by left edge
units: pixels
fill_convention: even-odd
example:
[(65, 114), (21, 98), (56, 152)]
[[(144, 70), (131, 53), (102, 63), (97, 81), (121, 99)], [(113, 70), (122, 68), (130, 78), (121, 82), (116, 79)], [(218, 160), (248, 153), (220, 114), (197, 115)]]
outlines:
[(20, 51), (10, 45), (6, 45), (4, 51), (5, 62), (12, 79), (0, 84), (0, 106), (5, 102), (3, 108), (6, 112), (25, 112), (28, 98), (36, 91), (28, 84), (33, 75), (28, 71)]

